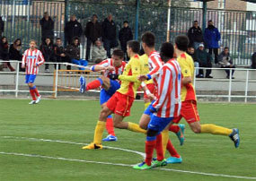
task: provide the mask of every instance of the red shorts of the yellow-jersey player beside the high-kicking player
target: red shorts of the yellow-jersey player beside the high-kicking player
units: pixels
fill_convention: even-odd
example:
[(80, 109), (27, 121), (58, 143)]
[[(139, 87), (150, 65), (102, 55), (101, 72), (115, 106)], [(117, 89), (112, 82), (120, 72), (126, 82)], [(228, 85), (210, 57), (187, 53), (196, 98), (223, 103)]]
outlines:
[(129, 116), (134, 98), (121, 94), (118, 91), (107, 102), (107, 107), (119, 116)]

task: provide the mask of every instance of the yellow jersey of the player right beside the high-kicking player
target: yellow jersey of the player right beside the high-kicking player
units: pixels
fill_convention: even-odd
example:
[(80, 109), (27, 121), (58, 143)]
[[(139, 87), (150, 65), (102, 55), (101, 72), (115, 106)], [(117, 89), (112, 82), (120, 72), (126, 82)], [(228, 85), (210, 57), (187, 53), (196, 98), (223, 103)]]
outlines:
[(138, 81), (137, 76), (142, 73), (142, 64), (138, 55), (132, 56), (128, 64), (125, 66), (124, 72), (119, 75), (121, 86), (119, 93), (127, 95), (129, 97), (136, 98), (137, 88), (141, 82)]

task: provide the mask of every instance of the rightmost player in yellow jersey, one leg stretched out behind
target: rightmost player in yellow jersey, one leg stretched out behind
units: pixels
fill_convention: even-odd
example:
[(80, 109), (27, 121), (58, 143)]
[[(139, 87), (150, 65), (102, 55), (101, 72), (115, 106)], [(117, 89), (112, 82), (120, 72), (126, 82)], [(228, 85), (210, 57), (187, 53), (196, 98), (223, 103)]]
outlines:
[(194, 77), (194, 62), (191, 56), (186, 53), (189, 39), (186, 36), (178, 36), (175, 39), (175, 52), (178, 62), (181, 65), (182, 88), (181, 88), (181, 115), (175, 117), (173, 123), (179, 123), (184, 117), (195, 134), (218, 134), (227, 135), (234, 142), (234, 147), (239, 146), (240, 137), (237, 128), (228, 129), (213, 124), (200, 125), (197, 109), (197, 98), (192, 84)]

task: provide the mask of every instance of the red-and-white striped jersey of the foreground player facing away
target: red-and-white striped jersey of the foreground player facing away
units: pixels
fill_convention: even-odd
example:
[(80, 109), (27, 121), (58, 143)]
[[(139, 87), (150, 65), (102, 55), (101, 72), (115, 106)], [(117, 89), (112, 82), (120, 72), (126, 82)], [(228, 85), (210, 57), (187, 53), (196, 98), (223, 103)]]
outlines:
[(155, 116), (173, 117), (181, 112), (181, 67), (175, 59), (169, 60), (160, 70), (158, 92), (153, 107)]

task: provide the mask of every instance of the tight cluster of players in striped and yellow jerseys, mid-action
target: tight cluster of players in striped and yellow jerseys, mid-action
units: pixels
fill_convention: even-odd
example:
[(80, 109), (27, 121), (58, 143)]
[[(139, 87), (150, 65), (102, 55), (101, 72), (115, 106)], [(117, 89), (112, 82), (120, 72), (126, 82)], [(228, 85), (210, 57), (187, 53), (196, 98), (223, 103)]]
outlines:
[[(184, 125), (173, 125), (178, 124), (182, 117), (194, 133), (229, 136), (237, 148), (240, 143), (237, 128), (228, 129), (199, 123), (197, 98), (192, 84), (194, 63), (186, 53), (189, 39), (186, 36), (178, 36), (174, 46), (165, 42), (160, 53), (154, 49), (155, 38), (152, 32), (145, 32), (141, 40), (145, 55), (139, 56), (138, 41), (128, 41), (128, 64), (123, 61), (124, 52), (115, 49), (111, 58), (91, 67), (93, 72), (104, 72), (100, 78), (86, 84), (84, 77), (80, 77), (81, 92), (101, 88), (102, 106), (93, 142), (83, 149), (102, 149), (102, 134), (105, 127), (109, 135), (103, 141), (116, 141), (113, 129), (115, 127), (146, 134), (146, 159), (134, 168), (149, 169), (165, 166), (167, 163), (181, 163), (181, 156), (169, 139), (169, 131), (177, 134), (182, 145)], [(145, 92), (146, 110), (139, 120), (139, 125), (123, 122), (130, 114), (130, 108), (140, 87)], [(156, 159), (153, 159), (154, 149)], [(166, 150), (171, 154), (168, 159), (164, 159)]]

